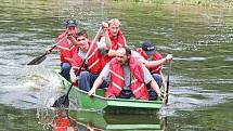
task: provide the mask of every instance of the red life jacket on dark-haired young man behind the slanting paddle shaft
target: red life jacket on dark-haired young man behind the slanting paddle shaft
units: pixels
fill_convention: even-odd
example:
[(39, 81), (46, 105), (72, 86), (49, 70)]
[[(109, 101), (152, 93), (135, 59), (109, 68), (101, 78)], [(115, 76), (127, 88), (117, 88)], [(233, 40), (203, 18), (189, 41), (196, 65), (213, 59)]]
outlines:
[[(91, 41), (89, 41), (88, 43), (90, 47)], [(69, 61), (72, 63), (73, 68), (75, 69), (75, 73), (79, 70), (79, 67), (81, 66), (82, 63), (82, 58), (78, 55), (78, 50), (79, 49), (77, 49), (76, 53), (74, 53), (73, 60)], [(86, 62), (88, 62), (89, 71), (91, 74), (99, 75), (104, 66), (102, 61), (103, 61), (102, 54), (100, 53), (96, 43), (94, 43), (86, 60)], [(85, 66), (82, 67), (82, 70), (85, 70)]]

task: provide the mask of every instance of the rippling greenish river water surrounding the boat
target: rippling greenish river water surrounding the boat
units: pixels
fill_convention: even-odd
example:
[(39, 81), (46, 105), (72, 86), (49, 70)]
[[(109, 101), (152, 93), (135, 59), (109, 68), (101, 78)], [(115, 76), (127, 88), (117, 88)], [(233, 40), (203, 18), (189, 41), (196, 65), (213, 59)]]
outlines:
[(66, 18), (77, 19), (93, 38), (111, 17), (121, 21), (129, 45), (151, 40), (161, 54), (173, 54), (169, 103), (156, 116), (137, 118), (70, 110), (79, 127), (233, 130), (233, 9), (109, 0), (1, 0), (0, 130), (51, 130), (55, 113), (50, 105), (61, 87), (50, 65), (59, 65), (51, 62), (59, 53), (38, 66), (26, 64), (54, 42)]

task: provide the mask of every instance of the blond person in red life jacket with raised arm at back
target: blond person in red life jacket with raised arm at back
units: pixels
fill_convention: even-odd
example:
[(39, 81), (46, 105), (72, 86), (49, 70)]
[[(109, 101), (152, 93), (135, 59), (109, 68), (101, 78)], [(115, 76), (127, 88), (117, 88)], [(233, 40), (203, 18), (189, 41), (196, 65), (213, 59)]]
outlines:
[(100, 38), (100, 43), (109, 45), (108, 55), (105, 56), (105, 62), (109, 62), (115, 55), (116, 50), (126, 45), (126, 38), (120, 29), (120, 22), (117, 18), (112, 18), (108, 23), (103, 22), (103, 36)]

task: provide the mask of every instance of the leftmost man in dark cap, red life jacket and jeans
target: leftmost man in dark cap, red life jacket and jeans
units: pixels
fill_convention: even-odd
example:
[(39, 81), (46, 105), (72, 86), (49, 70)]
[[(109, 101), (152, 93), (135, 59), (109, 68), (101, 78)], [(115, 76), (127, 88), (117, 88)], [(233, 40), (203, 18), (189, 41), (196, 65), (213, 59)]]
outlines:
[[(72, 67), (69, 61), (73, 56), (73, 52), (76, 50), (76, 47), (73, 44), (70, 40), (68, 40), (65, 37), (67, 37), (68, 35), (69, 36), (73, 35), (75, 37), (79, 28), (77, 27), (76, 21), (73, 21), (73, 19), (66, 21), (65, 27), (66, 29), (64, 30), (64, 32), (60, 35), (56, 39), (56, 42), (59, 42), (56, 49), (60, 50), (60, 53), (61, 53), (61, 67), (62, 67), (61, 75), (65, 79), (69, 80), (70, 78), (69, 70)], [(51, 48), (52, 45), (49, 45), (47, 48), (48, 53), (51, 53)]]

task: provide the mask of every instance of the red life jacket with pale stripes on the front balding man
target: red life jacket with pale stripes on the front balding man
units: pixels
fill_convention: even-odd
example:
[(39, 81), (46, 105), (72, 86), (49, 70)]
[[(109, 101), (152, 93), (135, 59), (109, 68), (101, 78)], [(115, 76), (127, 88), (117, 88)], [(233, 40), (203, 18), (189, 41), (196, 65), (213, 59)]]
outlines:
[[(132, 70), (132, 80), (130, 82), (130, 90), (137, 99), (147, 100), (147, 89), (143, 79), (143, 70), (140, 62), (133, 56), (130, 57), (130, 70)], [(106, 97), (111, 95), (119, 96), (124, 89), (124, 69), (117, 58), (109, 62), (111, 84), (106, 91)]]

